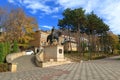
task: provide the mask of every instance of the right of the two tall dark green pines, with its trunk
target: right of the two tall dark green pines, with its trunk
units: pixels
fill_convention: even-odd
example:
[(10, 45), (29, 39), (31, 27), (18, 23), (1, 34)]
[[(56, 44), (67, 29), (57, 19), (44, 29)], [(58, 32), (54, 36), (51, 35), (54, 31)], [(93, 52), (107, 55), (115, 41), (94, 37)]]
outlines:
[[(90, 44), (91, 44), (91, 50), (96, 51), (96, 36), (103, 36), (108, 30), (109, 26), (107, 26), (101, 18), (99, 18), (96, 14), (91, 12), (87, 15), (87, 29), (90, 35)], [(102, 38), (102, 37), (101, 37)], [(103, 44), (103, 42), (101, 42)]]

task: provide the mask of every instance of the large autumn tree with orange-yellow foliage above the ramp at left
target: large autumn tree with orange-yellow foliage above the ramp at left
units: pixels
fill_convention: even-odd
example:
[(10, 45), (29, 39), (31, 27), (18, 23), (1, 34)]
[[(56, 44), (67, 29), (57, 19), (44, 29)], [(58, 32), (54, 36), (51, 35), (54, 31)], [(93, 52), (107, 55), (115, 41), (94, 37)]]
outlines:
[(13, 8), (7, 12), (4, 23), (7, 41), (13, 43), (17, 40), (20, 45), (25, 46), (33, 39), (33, 34), (37, 29), (35, 18), (27, 16), (21, 8)]

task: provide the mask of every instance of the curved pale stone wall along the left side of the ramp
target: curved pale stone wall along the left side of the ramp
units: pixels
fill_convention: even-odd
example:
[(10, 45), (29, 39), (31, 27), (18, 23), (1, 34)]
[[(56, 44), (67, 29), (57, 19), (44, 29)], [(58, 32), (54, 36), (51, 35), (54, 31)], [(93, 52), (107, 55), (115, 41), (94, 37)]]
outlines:
[(7, 61), (7, 63), (12, 63), (12, 61), (13, 61), (14, 59), (16, 59), (16, 58), (18, 58), (18, 57), (21, 57), (21, 56), (23, 56), (23, 55), (25, 55), (25, 52), (24, 52), (24, 51), (23, 51), (23, 52), (19, 52), (19, 53), (8, 54), (8, 55), (6, 56), (6, 61)]

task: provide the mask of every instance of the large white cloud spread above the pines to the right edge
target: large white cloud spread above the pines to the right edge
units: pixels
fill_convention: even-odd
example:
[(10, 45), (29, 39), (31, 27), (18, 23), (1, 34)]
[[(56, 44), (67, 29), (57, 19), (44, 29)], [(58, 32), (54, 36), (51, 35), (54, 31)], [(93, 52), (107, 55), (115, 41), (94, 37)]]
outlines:
[(114, 33), (120, 34), (120, 0), (57, 0), (56, 4), (64, 9), (82, 7), (88, 13), (94, 11)]

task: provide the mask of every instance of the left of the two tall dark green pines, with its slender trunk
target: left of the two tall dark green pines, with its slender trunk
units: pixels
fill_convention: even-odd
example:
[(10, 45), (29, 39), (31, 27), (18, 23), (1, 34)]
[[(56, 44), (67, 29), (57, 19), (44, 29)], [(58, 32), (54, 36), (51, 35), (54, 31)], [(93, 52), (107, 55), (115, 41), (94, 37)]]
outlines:
[(85, 25), (86, 17), (85, 17), (85, 10), (82, 8), (78, 9), (66, 9), (63, 12), (63, 19), (59, 20), (58, 25), (60, 28), (74, 30), (77, 32), (77, 44), (78, 50), (80, 51), (80, 27)]

